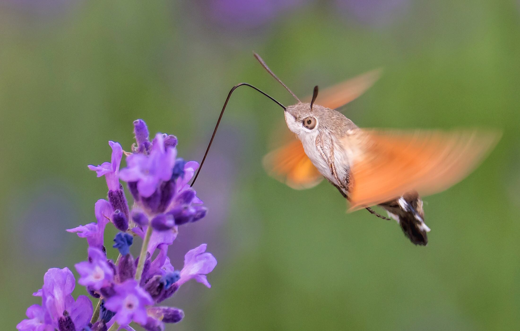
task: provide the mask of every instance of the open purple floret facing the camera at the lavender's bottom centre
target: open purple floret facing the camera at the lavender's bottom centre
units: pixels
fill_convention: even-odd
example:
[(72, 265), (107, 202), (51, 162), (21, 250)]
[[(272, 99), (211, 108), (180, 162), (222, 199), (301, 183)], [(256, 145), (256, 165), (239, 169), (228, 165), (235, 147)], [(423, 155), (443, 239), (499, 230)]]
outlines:
[(105, 301), (105, 307), (115, 312), (113, 320), (119, 325), (127, 325), (132, 321), (146, 324), (146, 306), (153, 305), (148, 292), (139, 287), (135, 279), (127, 279), (123, 284), (115, 285), (114, 289), (115, 295)]

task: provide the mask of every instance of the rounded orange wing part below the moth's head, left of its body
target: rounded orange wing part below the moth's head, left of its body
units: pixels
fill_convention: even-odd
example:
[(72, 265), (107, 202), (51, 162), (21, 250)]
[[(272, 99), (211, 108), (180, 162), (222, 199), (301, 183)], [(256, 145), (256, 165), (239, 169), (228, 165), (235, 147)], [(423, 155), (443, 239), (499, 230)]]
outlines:
[(323, 180), (297, 139), (271, 151), (263, 163), (270, 176), (295, 189), (311, 188)]

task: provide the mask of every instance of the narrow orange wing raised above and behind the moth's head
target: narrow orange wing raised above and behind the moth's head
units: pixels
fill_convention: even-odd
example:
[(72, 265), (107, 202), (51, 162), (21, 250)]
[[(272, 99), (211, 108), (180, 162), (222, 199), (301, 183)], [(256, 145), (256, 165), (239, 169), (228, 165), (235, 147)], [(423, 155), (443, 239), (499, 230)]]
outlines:
[[(361, 94), (365, 93), (381, 76), (381, 69), (375, 69), (348, 81), (328, 87), (318, 93), (318, 97), (314, 102), (316, 105), (336, 109), (348, 104)], [(310, 103), (312, 96), (303, 99), (303, 102)]]

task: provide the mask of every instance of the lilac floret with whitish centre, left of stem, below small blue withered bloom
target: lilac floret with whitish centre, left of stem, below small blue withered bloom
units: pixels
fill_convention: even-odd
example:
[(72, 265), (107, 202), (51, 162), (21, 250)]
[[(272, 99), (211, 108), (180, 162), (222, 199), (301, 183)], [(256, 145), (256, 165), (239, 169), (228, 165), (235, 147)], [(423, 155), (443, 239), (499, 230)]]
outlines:
[(74, 265), (81, 276), (77, 282), (95, 290), (109, 286), (114, 278), (114, 271), (107, 263), (105, 253), (98, 248), (90, 247), (88, 249), (88, 259), (89, 261), (83, 261)]

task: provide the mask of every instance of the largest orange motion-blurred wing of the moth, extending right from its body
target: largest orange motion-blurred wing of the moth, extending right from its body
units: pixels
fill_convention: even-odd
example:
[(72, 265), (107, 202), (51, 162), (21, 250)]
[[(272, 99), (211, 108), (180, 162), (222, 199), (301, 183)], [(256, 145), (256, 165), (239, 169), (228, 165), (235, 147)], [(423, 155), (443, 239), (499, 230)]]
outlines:
[(343, 141), (353, 160), (350, 211), (411, 190), (441, 192), (469, 174), (499, 138), (497, 132), (358, 129)]

